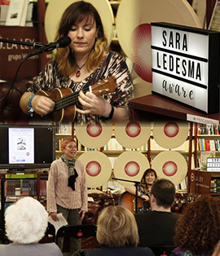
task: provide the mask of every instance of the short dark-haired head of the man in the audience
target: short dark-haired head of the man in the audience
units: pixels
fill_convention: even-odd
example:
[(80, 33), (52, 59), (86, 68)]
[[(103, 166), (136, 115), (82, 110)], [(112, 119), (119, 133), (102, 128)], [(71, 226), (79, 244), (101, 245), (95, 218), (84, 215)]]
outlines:
[(157, 206), (168, 209), (174, 202), (175, 186), (169, 179), (157, 179), (152, 185), (151, 192)]

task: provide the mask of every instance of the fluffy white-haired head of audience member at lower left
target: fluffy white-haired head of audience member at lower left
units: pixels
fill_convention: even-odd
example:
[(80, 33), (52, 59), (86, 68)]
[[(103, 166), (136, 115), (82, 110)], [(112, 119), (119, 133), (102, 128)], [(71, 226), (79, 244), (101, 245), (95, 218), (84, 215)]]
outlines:
[(7, 207), (5, 222), (7, 237), (10, 241), (33, 244), (44, 236), (48, 214), (39, 201), (26, 196)]

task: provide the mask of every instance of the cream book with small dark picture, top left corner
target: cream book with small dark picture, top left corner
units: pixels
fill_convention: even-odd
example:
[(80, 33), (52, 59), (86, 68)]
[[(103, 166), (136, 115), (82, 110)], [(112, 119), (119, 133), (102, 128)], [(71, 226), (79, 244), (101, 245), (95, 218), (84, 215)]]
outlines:
[(7, 26), (25, 26), (29, 0), (11, 0), (7, 11)]

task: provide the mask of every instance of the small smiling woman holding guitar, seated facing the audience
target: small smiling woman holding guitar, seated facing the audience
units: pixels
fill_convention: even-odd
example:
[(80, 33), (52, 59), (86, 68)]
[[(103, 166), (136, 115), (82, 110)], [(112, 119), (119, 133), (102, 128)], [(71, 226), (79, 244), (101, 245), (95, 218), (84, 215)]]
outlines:
[[(157, 174), (156, 171), (149, 168), (143, 173), (142, 179), (138, 187), (138, 196), (144, 200), (143, 208), (144, 211), (150, 210), (150, 194), (152, 184), (156, 182)], [(125, 190), (135, 196), (136, 188), (134, 186), (126, 187)]]

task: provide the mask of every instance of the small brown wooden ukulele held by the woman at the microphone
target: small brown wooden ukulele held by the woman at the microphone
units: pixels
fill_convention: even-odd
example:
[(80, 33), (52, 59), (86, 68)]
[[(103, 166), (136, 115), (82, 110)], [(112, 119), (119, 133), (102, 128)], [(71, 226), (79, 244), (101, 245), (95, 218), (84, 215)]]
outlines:
[[(95, 95), (106, 95), (114, 92), (116, 89), (116, 78), (108, 77), (96, 82), (94, 85), (89, 86), (88, 88), (82, 88), (82, 91), (85, 94), (86, 91), (91, 91)], [(78, 102), (79, 91), (73, 93), (73, 90), (70, 88), (55, 88), (51, 91), (38, 90), (36, 95), (49, 97), (55, 102), (54, 110), (52, 113), (46, 115), (46, 119), (55, 121), (55, 123), (60, 123), (61, 121), (74, 121), (76, 116), (75, 105)]]

